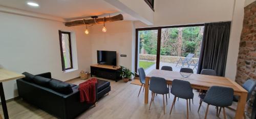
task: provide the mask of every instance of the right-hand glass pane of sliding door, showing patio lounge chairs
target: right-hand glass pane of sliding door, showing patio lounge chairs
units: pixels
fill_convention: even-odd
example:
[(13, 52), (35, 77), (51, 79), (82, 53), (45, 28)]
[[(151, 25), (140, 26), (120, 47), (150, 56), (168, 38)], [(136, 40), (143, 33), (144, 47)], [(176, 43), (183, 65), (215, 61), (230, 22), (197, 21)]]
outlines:
[(174, 72), (189, 67), (197, 73), (204, 26), (161, 30), (160, 66), (172, 66)]

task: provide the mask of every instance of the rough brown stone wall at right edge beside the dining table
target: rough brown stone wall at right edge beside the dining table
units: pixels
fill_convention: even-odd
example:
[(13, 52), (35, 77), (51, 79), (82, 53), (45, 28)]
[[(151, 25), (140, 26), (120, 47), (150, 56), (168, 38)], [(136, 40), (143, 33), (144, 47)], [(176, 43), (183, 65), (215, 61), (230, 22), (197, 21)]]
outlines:
[[(256, 2), (245, 7), (244, 12), (236, 76), (236, 82), (240, 85), (248, 79), (256, 79)], [(247, 118), (251, 115), (252, 107), (250, 105), (254, 100), (254, 93), (255, 91), (245, 107)]]

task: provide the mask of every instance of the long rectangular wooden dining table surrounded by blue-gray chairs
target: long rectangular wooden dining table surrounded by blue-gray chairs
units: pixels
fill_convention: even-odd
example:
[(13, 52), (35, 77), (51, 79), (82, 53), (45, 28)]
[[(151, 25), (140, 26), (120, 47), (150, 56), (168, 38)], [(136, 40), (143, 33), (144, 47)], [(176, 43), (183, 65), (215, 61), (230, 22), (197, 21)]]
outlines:
[(218, 76), (199, 75), (199, 74), (191, 74), (188, 78), (184, 78), (181, 76), (179, 72), (153, 69), (152, 72), (146, 75), (146, 79), (145, 79), (145, 97), (144, 97), (145, 104), (148, 103), (148, 84), (151, 77), (164, 78), (167, 84), (170, 84), (170, 85), (172, 85), (172, 81), (174, 79), (188, 81), (190, 82), (191, 87), (194, 89), (208, 90), (211, 86), (225, 86), (225, 87), (233, 88), (234, 95), (240, 97), (237, 105), (235, 118), (236, 119), (243, 118), (243, 113), (245, 109), (248, 92), (238, 83), (228, 78), (218, 77)]

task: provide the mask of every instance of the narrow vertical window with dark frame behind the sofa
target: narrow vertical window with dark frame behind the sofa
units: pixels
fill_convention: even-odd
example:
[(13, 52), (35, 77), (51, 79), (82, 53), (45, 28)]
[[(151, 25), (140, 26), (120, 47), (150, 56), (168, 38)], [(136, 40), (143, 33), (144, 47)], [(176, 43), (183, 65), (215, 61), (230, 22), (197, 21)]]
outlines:
[(70, 32), (64, 32), (59, 30), (59, 45), (62, 71), (72, 69), (73, 62)]

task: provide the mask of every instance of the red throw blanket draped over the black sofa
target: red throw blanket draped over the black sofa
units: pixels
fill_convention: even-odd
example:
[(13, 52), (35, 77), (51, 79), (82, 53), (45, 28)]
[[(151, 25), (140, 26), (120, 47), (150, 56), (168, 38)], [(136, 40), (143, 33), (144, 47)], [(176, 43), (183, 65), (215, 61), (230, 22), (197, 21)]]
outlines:
[(95, 103), (96, 101), (96, 78), (87, 80), (86, 82), (80, 83), (78, 90), (80, 91), (80, 102), (86, 101), (87, 103)]

